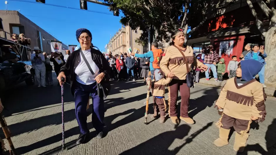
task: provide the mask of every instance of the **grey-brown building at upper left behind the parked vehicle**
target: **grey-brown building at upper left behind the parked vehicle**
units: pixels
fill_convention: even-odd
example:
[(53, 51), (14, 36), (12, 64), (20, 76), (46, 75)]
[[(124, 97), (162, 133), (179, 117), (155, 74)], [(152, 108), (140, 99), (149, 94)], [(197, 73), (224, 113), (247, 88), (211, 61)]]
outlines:
[[(0, 18), (2, 19), (4, 31), (11, 34), (24, 33), (26, 38), (31, 38), (31, 48), (38, 46), (41, 51), (51, 53), (51, 40), (57, 40), (51, 34), (43, 30), (41, 27), (30, 21), (18, 11), (0, 10)], [(1, 37), (4, 36), (3, 31), (0, 32)], [(44, 40), (43, 40), (44, 37)], [(11, 35), (6, 34), (6, 38), (10, 39)], [(59, 40), (57, 40), (59, 41)], [(68, 50), (65, 44), (62, 44), (63, 50)]]

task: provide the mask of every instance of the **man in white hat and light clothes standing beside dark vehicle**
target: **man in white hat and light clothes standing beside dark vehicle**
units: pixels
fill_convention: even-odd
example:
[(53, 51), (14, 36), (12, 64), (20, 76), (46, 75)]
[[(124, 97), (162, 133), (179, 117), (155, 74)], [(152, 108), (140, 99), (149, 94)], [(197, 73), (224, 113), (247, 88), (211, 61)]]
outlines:
[(43, 54), (39, 53), (40, 49), (38, 47), (34, 47), (33, 49), (35, 53), (31, 54), (31, 62), (33, 63), (33, 69), (36, 74), (36, 81), (38, 83), (38, 87), (46, 87), (45, 86), (45, 76), (46, 76), (46, 67), (45, 67), (45, 57)]

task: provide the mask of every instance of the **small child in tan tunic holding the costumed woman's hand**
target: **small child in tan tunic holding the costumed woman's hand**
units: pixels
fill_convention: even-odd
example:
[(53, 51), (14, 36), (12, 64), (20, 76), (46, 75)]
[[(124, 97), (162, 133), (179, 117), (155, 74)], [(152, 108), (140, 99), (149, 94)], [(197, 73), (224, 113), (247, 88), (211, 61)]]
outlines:
[(172, 78), (164, 79), (164, 73), (159, 70), (154, 70), (154, 81), (152, 81), (152, 96), (154, 101), (154, 117), (157, 116), (157, 108), (160, 112), (160, 123), (165, 122), (166, 102), (165, 102), (165, 85), (171, 82)]

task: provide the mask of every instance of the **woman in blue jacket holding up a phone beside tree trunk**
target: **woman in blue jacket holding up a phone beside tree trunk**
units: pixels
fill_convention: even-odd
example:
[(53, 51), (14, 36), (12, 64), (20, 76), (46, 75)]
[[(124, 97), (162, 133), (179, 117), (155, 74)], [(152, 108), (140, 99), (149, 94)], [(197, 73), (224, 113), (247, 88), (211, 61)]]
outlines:
[(264, 46), (259, 46), (259, 44), (253, 44), (252, 45), (252, 52), (248, 53), (244, 59), (250, 60), (254, 59), (259, 61), (262, 64), (262, 70), (258, 73), (260, 83), (262, 84), (263, 88), (266, 88), (265, 86), (265, 58), (267, 57), (267, 54), (265, 53)]

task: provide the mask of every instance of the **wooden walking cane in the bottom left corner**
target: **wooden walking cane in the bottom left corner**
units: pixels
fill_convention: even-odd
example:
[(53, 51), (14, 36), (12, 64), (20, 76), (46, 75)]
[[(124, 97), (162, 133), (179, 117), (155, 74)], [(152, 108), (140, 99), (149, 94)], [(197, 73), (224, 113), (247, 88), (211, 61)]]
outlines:
[(9, 143), (9, 146), (10, 146), (10, 155), (17, 155), (16, 152), (15, 152), (15, 148), (14, 148), (14, 144), (12, 144), (12, 141), (11, 141), (11, 132), (8, 128), (8, 125), (5, 121), (5, 118), (2, 116), (2, 114), (0, 114), (1, 117), (0, 117), (0, 125), (3, 129), (3, 132), (5, 134), (5, 137), (6, 139), (8, 140), (8, 143)]

